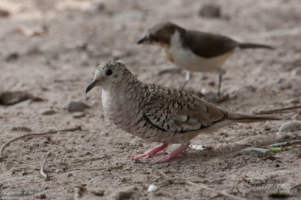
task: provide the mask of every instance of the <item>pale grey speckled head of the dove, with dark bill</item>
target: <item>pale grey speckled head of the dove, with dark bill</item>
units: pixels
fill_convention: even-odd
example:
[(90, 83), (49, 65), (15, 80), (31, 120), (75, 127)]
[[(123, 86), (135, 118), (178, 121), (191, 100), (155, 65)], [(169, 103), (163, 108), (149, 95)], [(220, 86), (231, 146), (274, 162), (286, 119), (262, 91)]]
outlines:
[(114, 60), (106, 61), (96, 68), (94, 79), (86, 88), (86, 94), (95, 86), (103, 89), (122, 87), (126, 84), (127, 76), (132, 76), (132, 74), (125, 64)]

